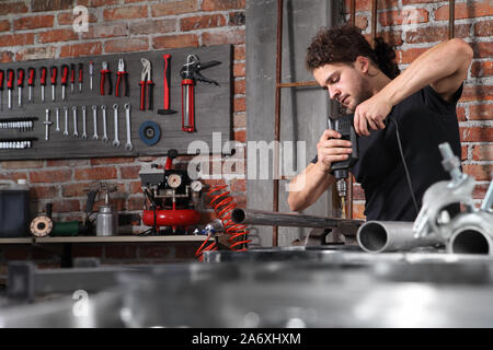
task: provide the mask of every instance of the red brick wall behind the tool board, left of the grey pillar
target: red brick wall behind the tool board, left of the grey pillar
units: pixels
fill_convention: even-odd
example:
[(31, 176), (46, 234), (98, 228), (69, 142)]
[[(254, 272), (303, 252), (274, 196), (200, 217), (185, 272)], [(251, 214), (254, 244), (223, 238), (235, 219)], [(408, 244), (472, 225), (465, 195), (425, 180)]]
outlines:
[[(85, 33), (73, 31), (76, 5), (87, 7), (89, 11), (89, 31)], [(237, 141), (244, 142), (244, 7), (245, 0), (1, 0), (0, 61), (232, 44), (234, 101), (231, 133)], [(175, 163), (185, 167), (188, 160), (190, 158), (181, 156)], [(150, 162), (164, 164), (165, 155), (9, 161), (0, 163), (0, 178), (27, 179), (33, 209), (42, 211), (46, 202), (53, 202), (54, 218), (60, 221), (80, 220), (88, 185), (95, 180), (111, 180), (118, 184), (119, 194), (114, 201), (119, 212), (135, 217), (140, 215), (144, 203), (138, 172), (144, 164)], [(206, 183), (230, 185), (239, 206), (245, 206), (244, 180)], [(206, 208), (203, 221), (208, 222), (211, 218), (215, 218), (214, 211)], [(147, 228), (138, 222), (135, 226), (126, 228), (128, 232), (141, 232), (145, 229)], [(192, 252), (180, 248), (181, 245), (169, 245), (169, 248), (156, 245), (156, 249), (152, 246), (127, 247), (126, 252), (131, 250), (131, 254), (124, 254), (119, 258), (139, 261), (159, 259), (159, 256), (161, 259), (181, 259), (185, 256), (183, 252)], [(118, 259), (117, 254), (114, 254), (115, 249), (108, 246), (89, 250), (106, 260)], [(14, 253), (0, 250), (0, 260), (2, 255), (9, 259), (9, 254)], [(14, 256), (34, 259), (43, 257), (47, 259), (46, 264), (53, 258), (45, 253), (38, 254), (39, 256), (33, 254), (15, 253)]]

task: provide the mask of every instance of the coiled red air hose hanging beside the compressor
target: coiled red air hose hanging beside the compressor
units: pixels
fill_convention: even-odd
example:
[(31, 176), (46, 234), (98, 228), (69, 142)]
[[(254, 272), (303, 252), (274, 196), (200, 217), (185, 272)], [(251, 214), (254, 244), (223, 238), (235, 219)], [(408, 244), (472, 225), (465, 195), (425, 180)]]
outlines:
[[(233, 209), (237, 208), (237, 202), (230, 196), (230, 191), (225, 190), (221, 192), (221, 190), (227, 188), (228, 185), (213, 186), (207, 192), (207, 197), (211, 198), (210, 206), (214, 207), (217, 218), (221, 220), (226, 234), (230, 235), (228, 242), (231, 245), (229, 248), (234, 252), (244, 252), (248, 249), (246, 244), (251, 242), (246, 238), (250, 231), (245, 224), (238, 224), (232, 221), (231, 213)], [(202, 254), (204, 252), (218, 249), (216, 242), (213, 242), (205, 247), (211, 236), (213, 233), (209, 233), (207, 238), (195, 253), (195, 256), (197, 256), (200, 261), (203, 260)]]

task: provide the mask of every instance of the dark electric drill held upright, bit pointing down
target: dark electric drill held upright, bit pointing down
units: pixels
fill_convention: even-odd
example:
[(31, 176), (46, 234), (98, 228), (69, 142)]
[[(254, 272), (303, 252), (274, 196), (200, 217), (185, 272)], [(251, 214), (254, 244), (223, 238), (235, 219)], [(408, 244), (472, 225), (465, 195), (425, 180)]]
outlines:
[(353, 152), (348, 154), (347, 160), (333, 162), (331, 165), (331, 174), (334, 175), (336, 179), (336, 187), (340, 198), (346, 196), (346, 182), (345, 179), (349, 176), (349, 168), (358, 160), (358, 143), (356, 139), (356, 132), (353, 127), (354, 115), (344, 115), (335, 119), (329, 118), (329, 129), (335, 130), (342, 136), (342, 140), (351, 141), (351, 148)]

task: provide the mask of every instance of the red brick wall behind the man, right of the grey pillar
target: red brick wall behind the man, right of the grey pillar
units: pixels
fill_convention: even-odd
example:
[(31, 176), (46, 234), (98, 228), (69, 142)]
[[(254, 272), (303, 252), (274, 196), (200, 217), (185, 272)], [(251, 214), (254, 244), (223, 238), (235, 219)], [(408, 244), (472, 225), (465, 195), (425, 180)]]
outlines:
[[(465, 39), (474, 57), (457, 107), (462, 144), (462, 168), (478, 180), (473, 192), (481, 203), (492, 178), (493, 164), (493, 5), (491, 0), (456, 0), (455, 36)], [(367, 38), (371, 32), (370, 0), (356, 0), (356, 25)], [(404, 70), (427, 48), (448, 39), (448, 1), (378, 0), (377, 32), (395, 45)], [(349, 20), (349, 0), (344, 1)], [(354, 188), (355, 218), (364, 218), (365, 195)]]

